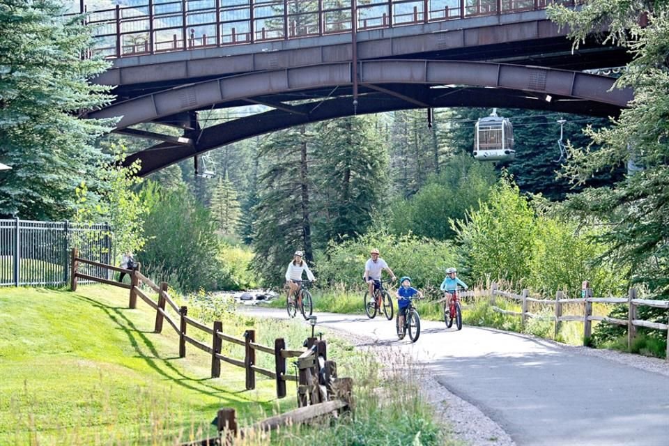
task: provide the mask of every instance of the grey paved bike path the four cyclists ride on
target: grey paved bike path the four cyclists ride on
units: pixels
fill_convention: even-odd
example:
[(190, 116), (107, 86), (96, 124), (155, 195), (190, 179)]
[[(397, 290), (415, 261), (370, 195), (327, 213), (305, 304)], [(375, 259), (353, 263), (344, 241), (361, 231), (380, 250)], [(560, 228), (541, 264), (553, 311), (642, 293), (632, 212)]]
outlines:
[[(245, 309), (286, 318), (274, 309)], [(318, 325), (413, 355), (449, 391), (500, 424), (518, 445), (669, 446), (669, 377), (520, 334), (421, 321), (416, 344), (394, 321), (318, 313)], [(408, 339), (408, 337), (407, 337)]]

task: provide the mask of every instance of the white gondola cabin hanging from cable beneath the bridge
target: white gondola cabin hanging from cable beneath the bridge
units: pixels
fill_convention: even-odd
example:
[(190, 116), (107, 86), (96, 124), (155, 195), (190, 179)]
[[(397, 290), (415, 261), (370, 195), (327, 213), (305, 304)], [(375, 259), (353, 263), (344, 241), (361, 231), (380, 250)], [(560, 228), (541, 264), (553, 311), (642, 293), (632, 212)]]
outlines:
[(507, 118), (497, 116), (496, 109), (476, 123), (474, 157), (484, 161), (513, 160), (516, 157), (514, 128)]

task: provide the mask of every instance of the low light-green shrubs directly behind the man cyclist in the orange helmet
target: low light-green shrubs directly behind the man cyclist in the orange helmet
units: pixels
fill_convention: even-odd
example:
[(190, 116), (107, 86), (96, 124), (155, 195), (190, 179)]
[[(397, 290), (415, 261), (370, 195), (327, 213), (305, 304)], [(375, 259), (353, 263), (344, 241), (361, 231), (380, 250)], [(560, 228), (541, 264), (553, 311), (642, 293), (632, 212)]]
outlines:
[(393, 236), (385, 231), (371, 231), (355, 240), (330, 244), (327, 253), (319, 253), (316, 266), (321, 280), (357, 288), (363, 284), (364, 263), (369, 251), (378, 248), (390, 269), (398, 276), (408, 275), (413, 285), (434, 291), (445, 277), (445, 269), (455, 264), (456, 254), (449, 242), (407, 234)]

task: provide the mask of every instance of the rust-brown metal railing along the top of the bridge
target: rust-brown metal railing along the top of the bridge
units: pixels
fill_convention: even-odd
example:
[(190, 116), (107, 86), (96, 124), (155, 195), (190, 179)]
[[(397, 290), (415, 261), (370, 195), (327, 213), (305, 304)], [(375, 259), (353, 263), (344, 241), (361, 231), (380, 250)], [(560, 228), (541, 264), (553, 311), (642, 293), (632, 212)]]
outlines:
[[(351, 0), (146, 0), (88, 10), (93, 52), (109, 58), (351, 32)], [(355, 1), (355, 0), (354, 0)], [(358, 2), (360, 0), (357, 0)], [(240, 3), (245, 3), (240, 5)], [(574, 0), (386, 0), (355, 4), (360, 31), (541, 10)]]

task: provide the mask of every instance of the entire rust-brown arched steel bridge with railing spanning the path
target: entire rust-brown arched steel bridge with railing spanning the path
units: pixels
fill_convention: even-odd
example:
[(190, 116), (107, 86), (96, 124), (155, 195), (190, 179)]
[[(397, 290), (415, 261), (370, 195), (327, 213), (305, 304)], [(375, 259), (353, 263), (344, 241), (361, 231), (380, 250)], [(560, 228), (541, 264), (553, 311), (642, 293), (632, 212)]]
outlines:
[[(546, 3), (148, 0), (91, 11), (93, 52), (114, 59), (96, 82), (115, 85), (117, 99), (88, 116), (119, 117), (116, 132), (160, 141), (126, 160), (140, 159), (146, 175), (247, 137), (352, 114), (517, 107), (617, 115), (632, 92), (583, 70), (624, 65), (628, 54), (596, 38), (572, 51), (546, 19)], [(199, 111), (249, 104), (271, 109), (198, 122)], [(141, 123), (183, 135), (134, 128)]]

